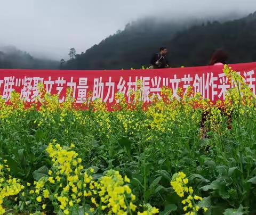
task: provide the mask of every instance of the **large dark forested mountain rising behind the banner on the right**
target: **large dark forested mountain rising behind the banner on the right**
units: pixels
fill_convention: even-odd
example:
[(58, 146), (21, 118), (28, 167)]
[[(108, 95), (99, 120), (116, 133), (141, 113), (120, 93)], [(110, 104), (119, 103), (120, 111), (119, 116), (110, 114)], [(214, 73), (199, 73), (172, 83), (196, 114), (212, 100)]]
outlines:
[(231, 21), (127, 24), (123, 31), (76, 54), (61, 69), (130, 69), (149, 65), (150, 57), (167, 46), (171, 67), (206, 65), (215, 49), (230, 53), (228, 63), (256, 61), (256, 12)]

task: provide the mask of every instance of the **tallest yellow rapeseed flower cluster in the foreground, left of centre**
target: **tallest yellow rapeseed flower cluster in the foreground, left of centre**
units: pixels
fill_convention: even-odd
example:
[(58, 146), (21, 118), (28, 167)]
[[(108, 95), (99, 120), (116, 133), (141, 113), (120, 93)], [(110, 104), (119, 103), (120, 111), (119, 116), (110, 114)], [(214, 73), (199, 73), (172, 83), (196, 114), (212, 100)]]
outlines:
[(42, 209), (45, 209), (45, 203), (49, 199), (55, 210), (59, 208), (64, 214), (70, 214), (77, 205), (90, 202), (93, 195), (91, 188), (94, 186), (91, 173), (94, 170), (83, 172), (82, 159), (78, 158), (78, 154), (55, 144), (55, 140), (49, 144), (46, 151), (53, 162), (48, 172), (49, 177), (35, 181), (35, 191), (31, 190), (30, 194), (37, 195), (36, 201), (43, 203)]

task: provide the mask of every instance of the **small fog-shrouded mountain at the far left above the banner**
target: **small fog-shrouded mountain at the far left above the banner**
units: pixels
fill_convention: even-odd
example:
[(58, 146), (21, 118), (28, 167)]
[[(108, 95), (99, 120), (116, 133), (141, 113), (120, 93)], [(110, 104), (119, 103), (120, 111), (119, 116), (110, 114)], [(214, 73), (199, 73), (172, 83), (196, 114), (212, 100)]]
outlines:
[(37, 59), (14, 46), (0, 47), (0, 69), (58, 69), (59, 62)]

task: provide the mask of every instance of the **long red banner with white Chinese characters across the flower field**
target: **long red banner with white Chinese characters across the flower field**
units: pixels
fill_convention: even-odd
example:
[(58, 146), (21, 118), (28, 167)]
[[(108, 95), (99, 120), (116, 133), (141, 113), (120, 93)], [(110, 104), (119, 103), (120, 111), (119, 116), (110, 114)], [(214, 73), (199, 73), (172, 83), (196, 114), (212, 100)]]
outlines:
[[(241, 73), (245, 82), (255, 93), (256, 63), (231, 64)], [(36, 101), (38, 83), (43, 82), (47, 92), (59, 94), (59, 102), (65, 101), (66, 89), (73, 89), (76, 103), (86, 100), (89, 91), (93, 100), (101, 98), (109, 105), (115, 102), (115, 93), (121, 92), (131, 101), (132, 90), (137, 89), (137, 81), (142, 82), (142, 100), (150, 102), (150, 95), (160, 96), (161, 88), (168, 86), (173, 96), (178, 97), (178, 88), (186, 90), (193, 86), (195, 93), (201, 93), (212, 101), (225, 100), (225, 93), (231, 84), (223, 73), (223, 66), (206, 66), (157, 70), (9, 70), (0, 69), (0, 96), (6, 102), (11, 92), (20, 93), (20, 98), (28, 103)]]

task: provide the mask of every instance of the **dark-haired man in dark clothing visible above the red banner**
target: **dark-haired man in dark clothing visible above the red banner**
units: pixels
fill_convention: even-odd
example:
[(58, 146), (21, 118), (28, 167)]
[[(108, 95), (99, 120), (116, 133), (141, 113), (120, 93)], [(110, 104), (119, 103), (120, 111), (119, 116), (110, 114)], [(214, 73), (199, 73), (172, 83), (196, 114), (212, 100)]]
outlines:
[(169, 63), (166, 57), (167, 48), (161, 47), (159, 49), (159, 53), (156, 53), (151, 58), (151, 67), (154, 69), (163, 69), (163, 68), (169, 68)]

